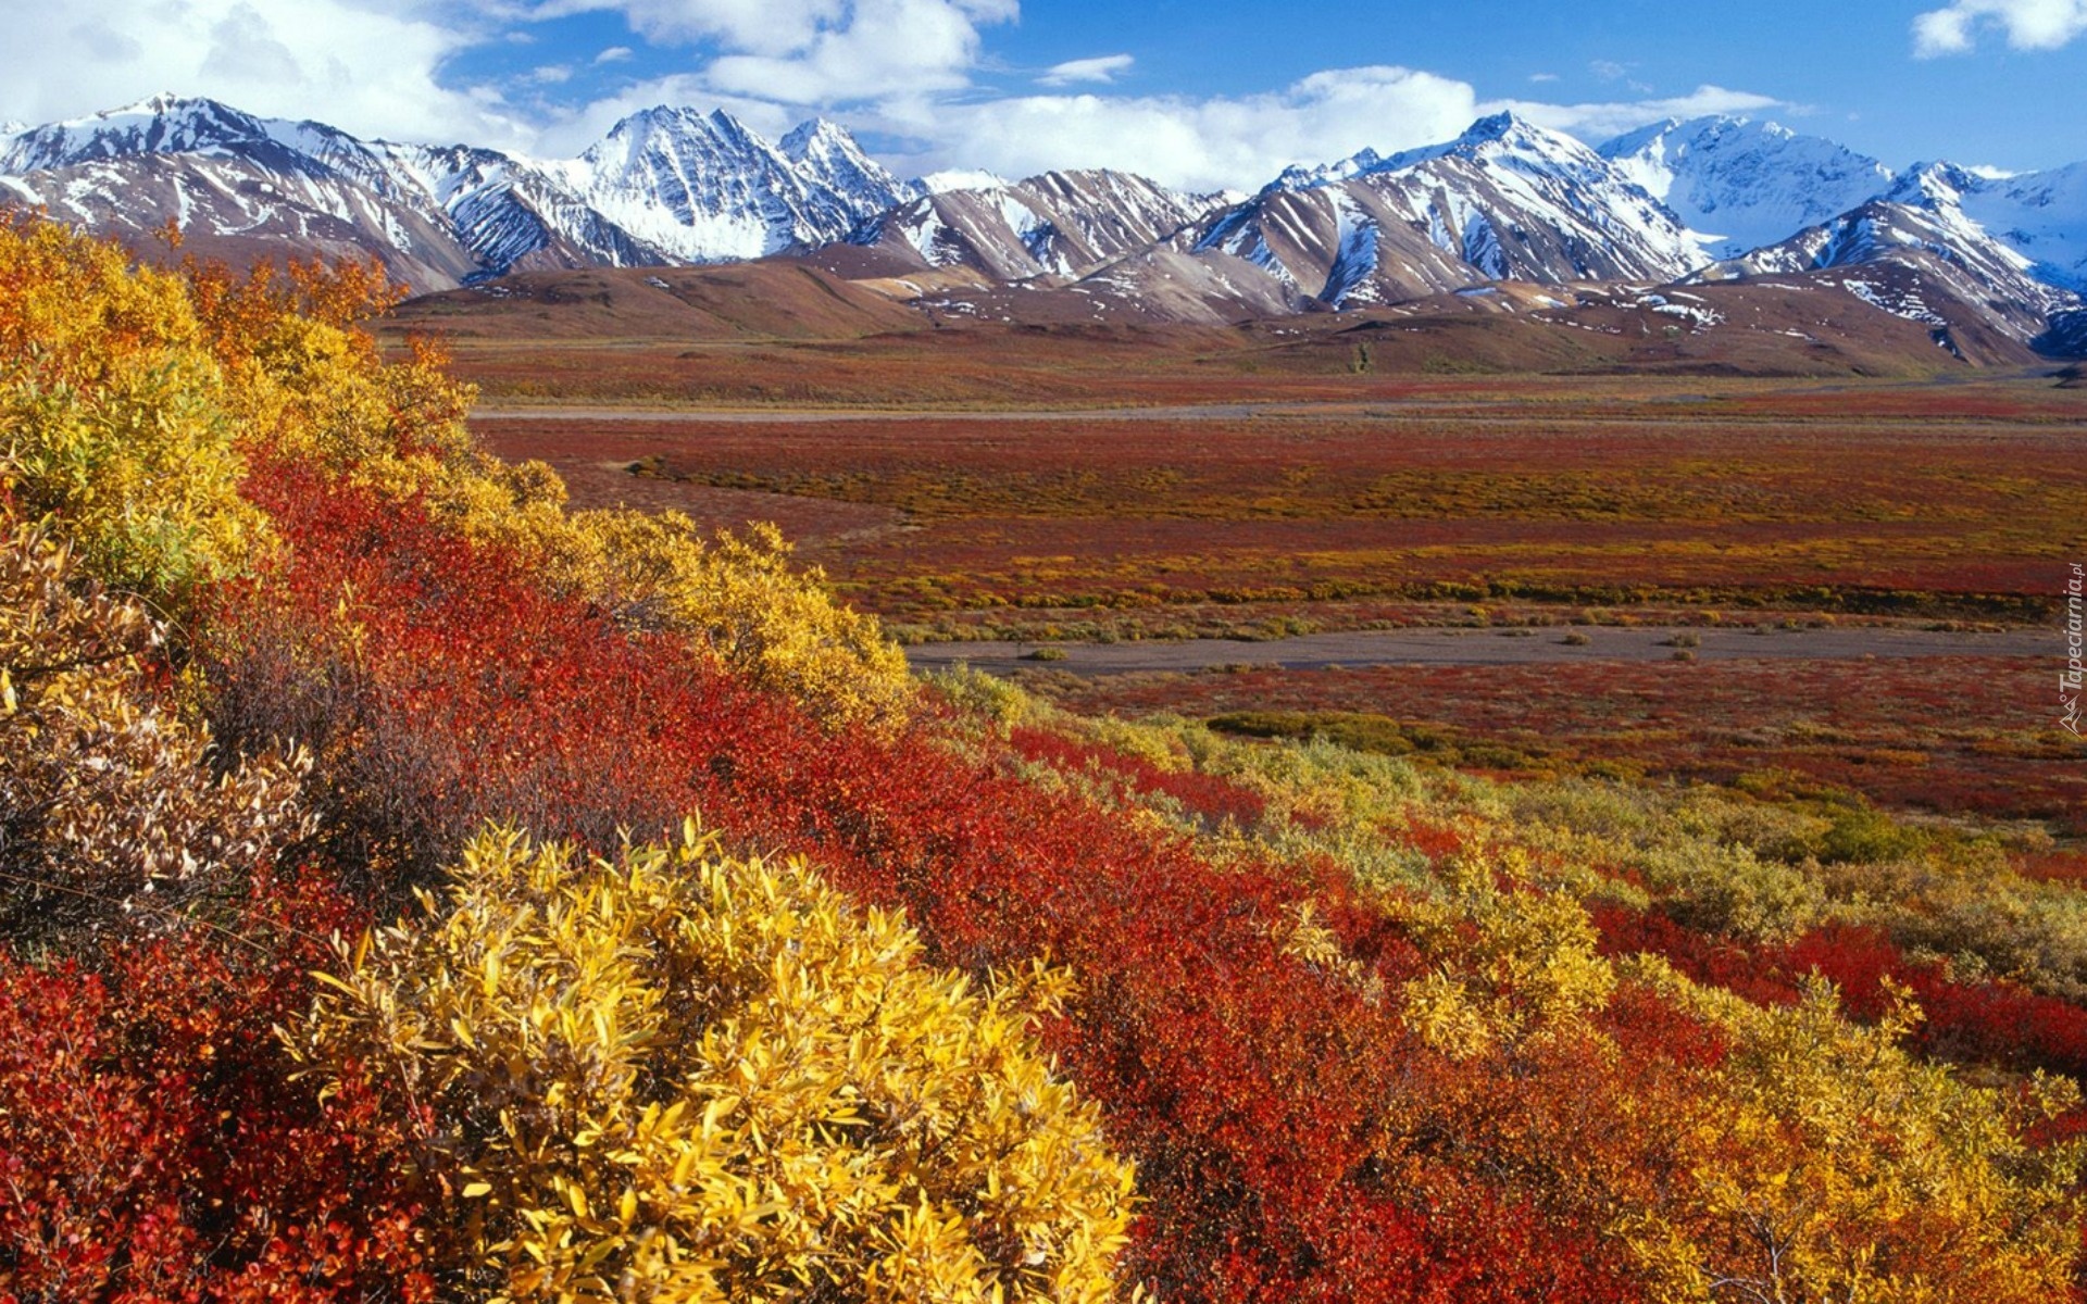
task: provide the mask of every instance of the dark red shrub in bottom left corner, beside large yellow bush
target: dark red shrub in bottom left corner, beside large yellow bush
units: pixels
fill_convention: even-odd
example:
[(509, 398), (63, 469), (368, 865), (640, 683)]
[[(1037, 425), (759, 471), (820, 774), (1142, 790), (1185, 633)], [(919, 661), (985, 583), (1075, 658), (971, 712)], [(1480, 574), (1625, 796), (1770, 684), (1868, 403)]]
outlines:
[(217, 918), (0, 949), (0, 1298), (432, 1300), (407, 1118), (353, 1072), (321, 1102), (275, 1037), (355, 914), (257, 878)]

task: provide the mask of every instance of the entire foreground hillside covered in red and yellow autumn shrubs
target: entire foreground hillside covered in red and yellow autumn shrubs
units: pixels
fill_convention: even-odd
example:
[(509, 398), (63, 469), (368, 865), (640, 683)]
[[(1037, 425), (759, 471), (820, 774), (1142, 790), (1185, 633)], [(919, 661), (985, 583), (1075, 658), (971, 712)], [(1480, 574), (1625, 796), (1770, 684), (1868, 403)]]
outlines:
[[(100, 257), (67, 240), (0, 230), (0, 290), (56, 275), (25, 242)], [(92, 369), (138, 330), (119, 269), (79, 284), (50, 342)], [(261, 524), (219, 553), (177, 476), (86, 503), (8, 467), (90, 572), (23, 536), (10, 801), (115, 812), (25, 818), (23, 878), (129, 908), (19, 910), (0, 956), (0, 1294), (2074, 1294), (2077, 1093), (1916, 1060), (1882, 972), (1868, 1022), (1803, 976), (1749, 1004), (1605, 956), (1586, 910), (1801, 939), (1924, 841), (1770, 864), (1670, 805), (1603, 841), (1323, 739), (935, 703), (770, 540), (566, 513), (480, 457), (432, 357), (351, 330), (367, 275), (150, 286), (236, 432), (221, 511)], [(10, 376), (42, 311), (0, 300)], [(161, 576), (182, 624), (90, 576)], [(29, 661), (61, 626), (71, 678)], [(92, 751), (104, 718), (167, 759)], [(292, 747), (309, 772), (213, 805)], [(163, 810), (209, 893), (125, 860)], [(682, 812), (716, 832), (672, 843)]]

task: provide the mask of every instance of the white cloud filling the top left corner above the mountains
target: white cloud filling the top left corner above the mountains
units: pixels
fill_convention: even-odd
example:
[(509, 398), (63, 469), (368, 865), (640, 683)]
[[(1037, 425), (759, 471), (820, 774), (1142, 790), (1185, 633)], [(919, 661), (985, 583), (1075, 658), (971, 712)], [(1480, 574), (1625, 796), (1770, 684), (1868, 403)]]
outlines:
[(365, 136), (520, 142), (526, 129), (495, 92), (438, 81), (486, 23), (470, 6), (415, 0), (0, 0), (17, 50), (0, 119), (81, 117), (171, 90)]

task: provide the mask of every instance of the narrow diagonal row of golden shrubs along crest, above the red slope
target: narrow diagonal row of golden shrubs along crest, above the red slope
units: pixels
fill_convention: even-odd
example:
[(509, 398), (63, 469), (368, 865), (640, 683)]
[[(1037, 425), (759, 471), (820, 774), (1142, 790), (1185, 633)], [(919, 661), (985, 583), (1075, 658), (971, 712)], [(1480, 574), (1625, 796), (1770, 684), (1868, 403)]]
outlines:
[(415, 344), (384, 361), (355, 330), (386, 303), (382, 282), (355, 267), (321, 275), (292, 265), (286, 282), (205, 277), (198, 296), (271, 465), (321, 467), (415, 501), (461, 538), (513, 555), (553, 593), (689, 638), (839, 724), (887, 724), (906, 709), (897, 647), (874, 618), (833, 601), (818, 572), (793, 570), (772, 526), (703, 538), (680, 513), (568, 511), (549, 465), (480, 451), (465, 428), (474, 390), (445, 371), (438, 351)]

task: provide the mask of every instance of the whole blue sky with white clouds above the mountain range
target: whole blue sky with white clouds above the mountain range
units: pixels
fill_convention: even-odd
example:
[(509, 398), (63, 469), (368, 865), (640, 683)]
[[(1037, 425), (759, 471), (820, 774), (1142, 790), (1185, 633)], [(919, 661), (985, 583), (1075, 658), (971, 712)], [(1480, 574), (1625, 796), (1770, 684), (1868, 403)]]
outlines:
[[(904, 171), (1252, 188), (1513, 106), (1745, 113), (1891, 165), (2087, 159), (2087, 0), (0, 0), (0, 119), (173, 90), (570, 154), (632, 108), (824, 113)], [(33, 56), (29, 56), (33, 54)]]

